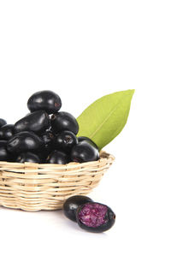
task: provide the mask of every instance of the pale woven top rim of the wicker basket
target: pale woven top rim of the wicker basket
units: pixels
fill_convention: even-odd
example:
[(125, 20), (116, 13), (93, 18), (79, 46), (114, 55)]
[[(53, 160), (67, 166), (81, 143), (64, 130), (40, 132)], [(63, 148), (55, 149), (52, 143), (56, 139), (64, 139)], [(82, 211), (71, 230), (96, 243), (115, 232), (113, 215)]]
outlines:
[(100, 151), (100, 158), (97, 161), (89, 161), (89, 162), (85, 162), (85, 163), (76, 163), (76, 162), (70, 162), (68, 164), (37, 164), (37, 163), (30, 163), (30, 162), (25, 162), (25, 163), (17, 163), (17, 162), (7, 162), (7, 161), (0, 161), (0, 167), (4, 166), (4, 165), (10, 165), (11, 167), (15, 165), (15, 167), (19, 167), (19, 168), (27, 168), (27, 167), (38, 167), (38, 168), (44, 168), (44, 167), (50, 167), (50, 166), (54, 166), (54, 167), (61, 167), (61, 168), (65, 168), (65, 169), (69, 169), (69, 168), (73, 168), (75, 165), (77, 167), (83, 167), (86, 165), (90, 165), (90, 164), (96, 164), (96, 163), (101, 163), (102, 161), (114, 161), (115, 157), (105, 151)]

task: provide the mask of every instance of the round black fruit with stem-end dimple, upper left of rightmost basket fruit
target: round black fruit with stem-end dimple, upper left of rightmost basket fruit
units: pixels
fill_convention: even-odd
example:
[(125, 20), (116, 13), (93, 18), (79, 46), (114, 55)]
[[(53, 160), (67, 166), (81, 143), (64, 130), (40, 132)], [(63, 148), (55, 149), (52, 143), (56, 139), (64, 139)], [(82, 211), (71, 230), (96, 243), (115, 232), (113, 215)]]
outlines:
[(70, 131), (63, 131), (56, 134), (54, 146), (64, 152), (70, 152), (72, 147), (78, 143), (77, 137)]

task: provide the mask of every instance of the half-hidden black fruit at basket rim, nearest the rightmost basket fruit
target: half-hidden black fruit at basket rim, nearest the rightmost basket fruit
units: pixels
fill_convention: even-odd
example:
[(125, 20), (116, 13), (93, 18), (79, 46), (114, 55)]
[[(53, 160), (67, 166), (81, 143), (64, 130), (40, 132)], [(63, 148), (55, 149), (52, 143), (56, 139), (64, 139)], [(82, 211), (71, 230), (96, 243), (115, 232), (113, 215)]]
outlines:
[(50, 153), (46, 161), (48, 164), (68, 164), (69, 158), (65, 152), (55, 150)]

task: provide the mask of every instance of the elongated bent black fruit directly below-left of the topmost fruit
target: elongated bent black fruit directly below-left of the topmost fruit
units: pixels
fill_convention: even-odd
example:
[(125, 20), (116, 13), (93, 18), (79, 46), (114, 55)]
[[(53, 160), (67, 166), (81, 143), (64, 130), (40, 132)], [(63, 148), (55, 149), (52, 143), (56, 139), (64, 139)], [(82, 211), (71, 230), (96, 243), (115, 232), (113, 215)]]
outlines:
[(32, 131), (42, 133), (50, 127), (50, 116), (44, 110), (38, 110), (15, 122), (15, 133)]

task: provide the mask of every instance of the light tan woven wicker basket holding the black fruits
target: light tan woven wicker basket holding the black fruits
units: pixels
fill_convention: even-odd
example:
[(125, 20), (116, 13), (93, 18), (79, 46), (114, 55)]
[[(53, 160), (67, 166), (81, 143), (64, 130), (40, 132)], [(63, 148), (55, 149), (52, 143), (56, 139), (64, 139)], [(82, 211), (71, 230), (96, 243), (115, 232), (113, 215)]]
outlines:
[(62, 209), (68, 197), (96, 188), (114, 160), (100, 152), (99, 160), (82, 164), (0, 162), (0, 205), (24, 211)]

